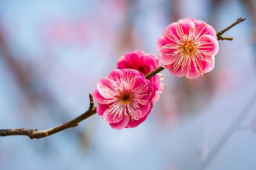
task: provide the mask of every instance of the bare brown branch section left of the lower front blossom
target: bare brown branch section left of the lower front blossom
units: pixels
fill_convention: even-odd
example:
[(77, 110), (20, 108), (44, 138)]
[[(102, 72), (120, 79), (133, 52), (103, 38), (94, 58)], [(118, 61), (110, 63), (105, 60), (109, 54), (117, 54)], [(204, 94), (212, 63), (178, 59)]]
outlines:
[(63, 131), (68, 128), (73, 128), (77, 125), (79, 125), (79, 122), (87, 119), (91, 115), (94, 115), (96, 113), (96, 107), (94, 107), (94, 101), (93, 101), (93, 95), (89, 94), (90, 98), (90, 107), (88, 111), (86, 111), (84, 114), (80, 115), (79, 117), (76, 117), (66, 123), (62, 123), (54, 128), (38, 131), (37, 129), (3, 129), (0, 130), (0, 136), (11, 136), (11, 135), (26, 135), (30, 137), (30, 139), (40, 139), (52, 134), (55, 134), (57, 132)]

